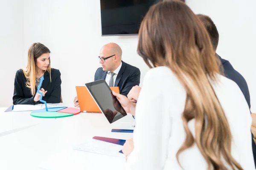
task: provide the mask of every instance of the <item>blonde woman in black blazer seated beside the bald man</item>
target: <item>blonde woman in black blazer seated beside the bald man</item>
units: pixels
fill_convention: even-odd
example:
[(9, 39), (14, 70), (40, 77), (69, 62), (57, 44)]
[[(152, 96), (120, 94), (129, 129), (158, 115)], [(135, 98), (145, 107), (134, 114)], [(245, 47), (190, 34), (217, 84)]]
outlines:
[[(33, 43), (28, 51), (28, 63), (25, 69), (16, 72), (14, 82), (14, 105), (36, 105), (41, 95), (47, 103), (61, 102), (61, 73), (51, 68), (50, 51), (41, 43)], [(42, 76), (43, 83), (39, 87)]]

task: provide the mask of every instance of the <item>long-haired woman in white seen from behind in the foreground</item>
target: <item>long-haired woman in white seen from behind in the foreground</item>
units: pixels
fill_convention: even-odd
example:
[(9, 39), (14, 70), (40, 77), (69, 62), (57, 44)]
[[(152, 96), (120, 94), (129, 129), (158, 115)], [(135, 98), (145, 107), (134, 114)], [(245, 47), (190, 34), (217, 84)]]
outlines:
[(137, 51), (151, 69), (137, 101), (134, 142), (124, 146), (126, 169), (255, 169), (248, 105), (221, 76), (191, 9), (175, 0), (152, 6)]

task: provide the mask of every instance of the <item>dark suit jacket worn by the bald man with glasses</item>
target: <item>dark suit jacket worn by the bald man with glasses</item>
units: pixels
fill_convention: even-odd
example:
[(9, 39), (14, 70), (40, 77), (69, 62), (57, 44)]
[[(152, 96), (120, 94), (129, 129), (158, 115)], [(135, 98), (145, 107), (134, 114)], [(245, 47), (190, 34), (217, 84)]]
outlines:
[[(102, 68), (98, 68), (94, 76), (94, 81), (105, 79), (107, 73)], [(117, 74), (114, 86), (119, 87), (120, 94), (127, 96), (131, 88), (135, 85), (140, 85), (140, 69), (122, 61), (122, 67)]]

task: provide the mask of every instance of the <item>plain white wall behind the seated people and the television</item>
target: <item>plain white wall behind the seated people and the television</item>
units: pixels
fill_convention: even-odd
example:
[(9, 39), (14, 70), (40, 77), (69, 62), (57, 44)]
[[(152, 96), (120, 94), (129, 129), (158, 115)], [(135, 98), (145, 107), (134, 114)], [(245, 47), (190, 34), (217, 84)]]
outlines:
[[(196, 14), (209, 15), (218, 27), (220, 41), (217, 52), (224, 59), (228, 59), (247, 80), (252, 112), (256, 112), (255, 2), (186, 0)], [(0, 8), (3, 8), (1, 16), (5, 17), (6, 22), (11, 22), (0, 32), (1, 36), (6, 36), (5, 39), (0, 39), (1, 52), (3, 56), (9, 56), (7, 64), (3, 68), (0, 67), (1, 80), (6, 81), (5, 84), (0, 83), (1, 89), (6, 89), (1, 93), (0, 107), (7, 107), (12, 103), (15, 71), (26, 66), (24, 54), (26, 55), (29, 45), (33, 42), (41, 42), (52, 51), (52, 67), (58, 68), (62, 74), (64, 103), (73, 102), (76, 85), (93, 81), (96, 68), (100, 66), (97, 59), (99, 49), (108, 42), (116, 42), (121, 46), (123, 60), (140, 68), (143, 81), (148, 68), (137, 55), (137, 36), (101, 37), (99, 0), (24, 0), (23, 9), (18, 8), (21, 4), (19, 0), (0, 4)], [(11, 13), (10, 9), (15, 9), (15, 15), (6, 15), (6, 12)], [(20, 21), (22, 18), (24, 23)], [(20, 45), (22, 40), (24, 46)], [(22, 62), (21, 58), (24, 59)], [(13, 68), (10, 68), (10, 65)]]

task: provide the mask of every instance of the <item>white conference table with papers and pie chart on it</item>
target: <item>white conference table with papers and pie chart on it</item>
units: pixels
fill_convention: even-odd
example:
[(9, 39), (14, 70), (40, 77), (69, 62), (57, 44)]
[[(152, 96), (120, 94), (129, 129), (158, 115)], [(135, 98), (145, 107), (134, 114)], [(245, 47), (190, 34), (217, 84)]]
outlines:
[(0, 108), (0, 170), (124, 169), (124, 158), (73, 147), (93, 136), (132, 138), (132, 133), (111, 132), (112, 128), (132, 129), (135, 121), (131, 115), (110, 124), (101, 113), (42, 119), (30, 112), (3, 112), (5, 109)]

